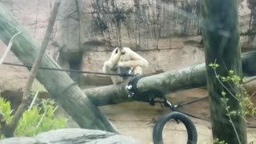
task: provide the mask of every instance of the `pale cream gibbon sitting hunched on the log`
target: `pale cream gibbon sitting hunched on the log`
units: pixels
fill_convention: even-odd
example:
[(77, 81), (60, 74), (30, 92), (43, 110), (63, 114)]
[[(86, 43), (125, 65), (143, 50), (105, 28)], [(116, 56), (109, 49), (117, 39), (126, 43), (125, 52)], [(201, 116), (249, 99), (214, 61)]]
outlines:
[[(115, 48), (110, 59), (104, 62), (103, 72), (110, 74), (142, 74), (142, 68), (149, 63), (145, 58), (130, 50), (129, 47)], [(111, 76), (112, 82), (116, 85), (125, 82), (127, 78)]]

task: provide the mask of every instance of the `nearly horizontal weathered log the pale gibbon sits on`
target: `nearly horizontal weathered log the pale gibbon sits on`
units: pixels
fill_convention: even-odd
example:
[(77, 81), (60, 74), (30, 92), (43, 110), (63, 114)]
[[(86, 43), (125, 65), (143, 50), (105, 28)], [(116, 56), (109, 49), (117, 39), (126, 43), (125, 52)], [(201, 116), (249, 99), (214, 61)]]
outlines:
[[(256, 75), (256, 52), (242, 56), (242, 70), (246, 76)], [(190, 66), (182, 70), (172, 70), (162, 74), (155, 74), (138, 81), (138, 91), (164, 90), (166, 93), (178, 90), (188, 90), (206, 86), (205, 64)], [(96, 106), (105, 106), (120, 102), (132, 101), (128, 98), (126, 83), (118, 86), (100, 86), (83, 90)]]

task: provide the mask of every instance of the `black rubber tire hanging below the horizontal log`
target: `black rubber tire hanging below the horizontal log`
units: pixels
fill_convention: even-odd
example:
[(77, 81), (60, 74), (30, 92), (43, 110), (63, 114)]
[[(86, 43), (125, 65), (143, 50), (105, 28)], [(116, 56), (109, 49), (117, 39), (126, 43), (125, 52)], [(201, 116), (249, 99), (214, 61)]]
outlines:
[(161, 118), (158, 119), (158, 122), (156, 122), (156, 124), (154, 125), (154, 144), (163, 144), (162, 130), (166, 125), (166, 122), (168, 122), (170, 119), (178, 120), (179, 122), (182, 122), (184, 126), (186, 126), (188, 137), (187, 144), (196, 144), (198, 142), (198, 133), (194, 126), (194, 123), (185, 114), (174, 111), (169, 114), (163, 115)]

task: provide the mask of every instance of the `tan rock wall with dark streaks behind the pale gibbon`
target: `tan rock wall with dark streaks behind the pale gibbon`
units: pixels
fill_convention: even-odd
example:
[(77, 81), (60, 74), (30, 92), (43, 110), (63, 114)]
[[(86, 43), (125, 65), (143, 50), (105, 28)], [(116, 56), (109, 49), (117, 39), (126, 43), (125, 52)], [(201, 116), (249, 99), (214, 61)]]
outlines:
[[(54, 1), (3, 0), (2, 3), (42, 42)], [(150, 62), (145, 74), (180, 69), (204, 62), (199, 13), (195, 0), (62, 0), (47, 53), (64, 69), (102, 71), (111, 50), (122, 44)], [(250, 14), (247, 2), (242, 1), (239, 6), (242, 34), (255, 29)], [(244, 43), (254, 42), (248, 36), (241, 39)], [(6, 46), (0, 44), (0, 47), (2, 53)], [(11, 54), (9, 57), (9, 62), (16, 62)], [(92, 75), (86, 78), (89, 84), (102, 80)]]

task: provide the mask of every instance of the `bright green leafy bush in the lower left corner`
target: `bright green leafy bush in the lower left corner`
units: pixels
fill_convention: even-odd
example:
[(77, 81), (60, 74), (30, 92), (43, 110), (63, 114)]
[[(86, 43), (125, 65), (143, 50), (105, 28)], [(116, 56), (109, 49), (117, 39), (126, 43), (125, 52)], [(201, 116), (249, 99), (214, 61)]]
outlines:
[[(10, 102), (6, 102), (1, 98), (1, 108), (7, 122), (10, 122), (12, 119), (10, 115)], [(56, 118), (54, 116), (56, 108), (53, 100), (46, 100), (42, 108), (33, 106), (30, 110), (26, 110), (18, 122), (14, 135), (34, 136), (45, 131), (65, 128), (67, 126), (67, 119)]]

